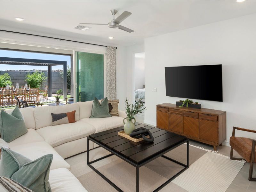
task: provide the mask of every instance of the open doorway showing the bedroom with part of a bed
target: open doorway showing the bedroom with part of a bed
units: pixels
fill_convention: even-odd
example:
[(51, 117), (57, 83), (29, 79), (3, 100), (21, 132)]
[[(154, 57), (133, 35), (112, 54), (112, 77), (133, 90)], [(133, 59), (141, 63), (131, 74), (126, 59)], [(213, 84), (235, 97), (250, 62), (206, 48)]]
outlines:
[[(140, 99), (145, 103), (145, 53), (134, 54), (134, 102), (138, 102)], [(138, 118), (144, 121), (144, 113), (137, 115)], [(136, 118), (137, 119), (137, 118)]]

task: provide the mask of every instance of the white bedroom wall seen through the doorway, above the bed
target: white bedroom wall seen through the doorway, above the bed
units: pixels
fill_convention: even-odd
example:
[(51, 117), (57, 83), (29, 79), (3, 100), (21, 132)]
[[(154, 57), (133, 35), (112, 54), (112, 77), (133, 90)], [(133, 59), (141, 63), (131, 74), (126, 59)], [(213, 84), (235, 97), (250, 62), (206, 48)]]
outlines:
[(142, 89), (145, 85), (145, 59), (135, 57), (134, 67), (134, 90)]

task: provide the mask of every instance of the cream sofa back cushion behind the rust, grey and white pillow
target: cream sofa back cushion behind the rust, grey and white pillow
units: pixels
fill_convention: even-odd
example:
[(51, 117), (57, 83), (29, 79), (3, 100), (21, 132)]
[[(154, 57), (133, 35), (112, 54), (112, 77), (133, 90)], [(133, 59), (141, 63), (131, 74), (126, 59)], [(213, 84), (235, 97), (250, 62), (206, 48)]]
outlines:
[(79, 105), (77, 103), (63, 105), (63, 106), (45, 106), (36, 107), (34, 109), (34, 117), (36, 122), (36, 129), (52, 125), (51, 113), (67, 113), (76, 111), (76, 121), (79, 120)]

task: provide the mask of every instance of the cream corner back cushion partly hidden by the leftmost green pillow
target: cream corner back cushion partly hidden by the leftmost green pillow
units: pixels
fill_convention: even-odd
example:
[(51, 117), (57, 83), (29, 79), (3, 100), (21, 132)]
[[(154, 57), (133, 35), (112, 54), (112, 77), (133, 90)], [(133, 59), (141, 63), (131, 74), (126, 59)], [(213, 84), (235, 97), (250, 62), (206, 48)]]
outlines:
[[(7, 113), (11, 113), (13, 109), (6, 109)], [(27, 129), (36, 129), (36, 123), (34, 118), (34, 108), (27, 107), (21, 108), (20, 112), (22, 113)]]

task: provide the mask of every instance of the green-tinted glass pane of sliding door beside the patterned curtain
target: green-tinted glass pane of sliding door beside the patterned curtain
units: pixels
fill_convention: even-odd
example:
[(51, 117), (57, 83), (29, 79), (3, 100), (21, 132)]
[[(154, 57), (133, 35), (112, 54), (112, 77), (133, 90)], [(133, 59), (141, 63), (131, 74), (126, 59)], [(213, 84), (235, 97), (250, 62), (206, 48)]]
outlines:
[(103, 98), (103, 54), (77, 52), (77, 101)]

